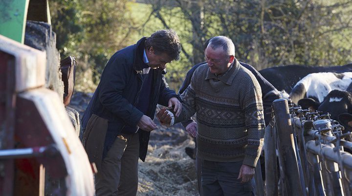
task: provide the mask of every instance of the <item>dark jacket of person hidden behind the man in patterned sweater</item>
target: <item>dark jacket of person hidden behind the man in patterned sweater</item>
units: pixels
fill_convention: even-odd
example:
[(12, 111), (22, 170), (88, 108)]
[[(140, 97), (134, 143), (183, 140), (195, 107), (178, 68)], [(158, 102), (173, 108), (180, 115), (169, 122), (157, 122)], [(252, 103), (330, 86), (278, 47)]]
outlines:
[[(198, 63), (197, 65), (193, 66), (187, 73), (186, 78), (181, 86), (181, 88), (178, 91), (178, 94), (182, 94), (188, 87), (188, 85), (191, 83), (191, 78), (193, 73), (196, 71), (196, 69), (203, 65), (206, 64), (206, 62)], [(257, 78), (259, 85), (261, 86), (262, 89), (262, 99), (263, 99), (263, 107), (264, 107), (264, 119), (265, 119), (265, 124), (268, 125), (268, 123), (271, 121), (271, 114), (270, 114), (270, 107), (272, 102), (275, 99), (280, 98), (279, 92), (275, 89), (275, 87), (270, 84), (256, 69), (254, 69), (251, 65), (242, 63), (240, 64), (248, 69), (253, 75)], [(183, 126), (186, 127), (189, 123), (193, 122), (193, 120), (186, 120), (182, 122)]]

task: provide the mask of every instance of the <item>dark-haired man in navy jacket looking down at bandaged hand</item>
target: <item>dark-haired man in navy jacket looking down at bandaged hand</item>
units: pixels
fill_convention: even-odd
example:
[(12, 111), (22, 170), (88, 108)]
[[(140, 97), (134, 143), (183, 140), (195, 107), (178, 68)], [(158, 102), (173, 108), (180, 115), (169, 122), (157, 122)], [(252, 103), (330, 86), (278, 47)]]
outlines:
[(138, 157), (144, 161), (156, 104), (181, 103), (165, 82), (165, 66), (178, 60), (180, 43), (173, 30), (159, 30), (117, 51), (107, 63), (86, 110), (83, 145), (95, 162), (97, 196), (135, 196)]

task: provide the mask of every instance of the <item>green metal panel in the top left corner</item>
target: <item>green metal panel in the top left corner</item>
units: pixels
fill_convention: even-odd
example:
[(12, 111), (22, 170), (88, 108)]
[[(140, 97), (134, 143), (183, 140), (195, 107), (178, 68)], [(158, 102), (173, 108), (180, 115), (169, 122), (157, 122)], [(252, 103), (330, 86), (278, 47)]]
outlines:
[(23, 44), (29, 0), (0, 0), (0, 34)]

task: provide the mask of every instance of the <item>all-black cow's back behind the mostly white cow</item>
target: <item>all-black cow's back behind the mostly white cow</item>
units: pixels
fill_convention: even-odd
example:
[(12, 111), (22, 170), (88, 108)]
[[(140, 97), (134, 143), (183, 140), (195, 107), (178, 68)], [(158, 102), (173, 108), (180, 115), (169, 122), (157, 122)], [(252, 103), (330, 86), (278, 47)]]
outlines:
[(352, 72), (352, 63), (344, 66), (333, 67), (309, 67), (303, 65), (287, 65), (280, 67), (266, 68), (261, 73), (277, 90), (285, 90), (290, 93), (293, 86), (309, 73), (319, 72)]

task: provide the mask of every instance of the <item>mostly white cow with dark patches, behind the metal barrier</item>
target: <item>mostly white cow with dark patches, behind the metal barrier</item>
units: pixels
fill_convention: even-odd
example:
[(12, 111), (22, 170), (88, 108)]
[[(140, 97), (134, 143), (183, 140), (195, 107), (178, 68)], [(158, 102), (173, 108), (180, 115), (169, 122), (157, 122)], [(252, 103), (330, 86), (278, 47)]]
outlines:
[(302, 98), (312, 98), (322, 102), (332, 90), (346, 91), (352, 83), (352, 72), (310, 73), (297, 82), (289, 94), (293, 103)]

